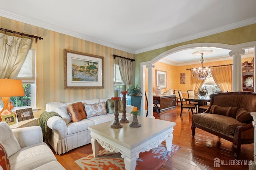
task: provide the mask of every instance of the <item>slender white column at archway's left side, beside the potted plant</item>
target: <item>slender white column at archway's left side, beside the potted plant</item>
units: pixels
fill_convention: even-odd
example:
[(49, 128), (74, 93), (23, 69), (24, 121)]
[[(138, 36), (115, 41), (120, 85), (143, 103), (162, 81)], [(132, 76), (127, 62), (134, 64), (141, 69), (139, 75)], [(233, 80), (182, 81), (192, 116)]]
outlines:
[(155, 118), (153, 116), (153, 74), (152, 74), (152, 68), (155, 66), (153, 64), (146, 65), (146, 68), (148, 68), (148, 117)]

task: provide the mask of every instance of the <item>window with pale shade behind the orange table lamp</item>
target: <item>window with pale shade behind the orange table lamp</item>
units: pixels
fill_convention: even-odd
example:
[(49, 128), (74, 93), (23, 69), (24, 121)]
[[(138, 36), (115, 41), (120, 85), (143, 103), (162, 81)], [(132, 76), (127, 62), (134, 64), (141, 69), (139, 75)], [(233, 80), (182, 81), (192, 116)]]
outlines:
[[(22, 80), (25, 96), (11, 97), (15, 110), (36, 108), (36, 50), (30, 49), (17, 79)], [(3, 107), (1, 105), (1, 107)]]

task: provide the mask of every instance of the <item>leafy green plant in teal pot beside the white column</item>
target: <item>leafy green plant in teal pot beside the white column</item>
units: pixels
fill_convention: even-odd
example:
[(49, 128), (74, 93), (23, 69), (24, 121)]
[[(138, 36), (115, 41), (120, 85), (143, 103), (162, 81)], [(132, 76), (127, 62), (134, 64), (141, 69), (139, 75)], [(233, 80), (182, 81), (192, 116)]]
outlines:
[(142, 99), (142, 91), (141, 88), (138, 87), (138, 85), (135, 87), (131, 85), (128, 89), (128, 96), (131, 97), (131, 105), (135, 106), (140, 110), (140, 104), (141, 104), (141, 99)]

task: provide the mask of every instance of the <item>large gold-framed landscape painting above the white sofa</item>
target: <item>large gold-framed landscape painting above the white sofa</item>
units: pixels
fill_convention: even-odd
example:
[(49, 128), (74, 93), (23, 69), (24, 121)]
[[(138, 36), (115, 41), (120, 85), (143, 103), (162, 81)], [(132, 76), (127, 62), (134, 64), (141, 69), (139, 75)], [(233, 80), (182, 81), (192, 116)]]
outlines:
[(104, 57), (64, 49), (64, 89), (104, 89)]

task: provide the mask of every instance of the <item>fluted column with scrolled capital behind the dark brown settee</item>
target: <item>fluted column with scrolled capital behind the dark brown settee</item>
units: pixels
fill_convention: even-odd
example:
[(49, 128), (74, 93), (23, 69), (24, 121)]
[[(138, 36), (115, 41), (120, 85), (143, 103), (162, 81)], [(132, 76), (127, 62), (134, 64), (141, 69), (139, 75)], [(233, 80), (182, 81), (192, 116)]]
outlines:
[(242, 59), (241, 56), (245, 54), (245, 50), (230, 51), (228, 53), (230, 57), (233, 57), (233, 82), (232, 91), (242, 90)]

